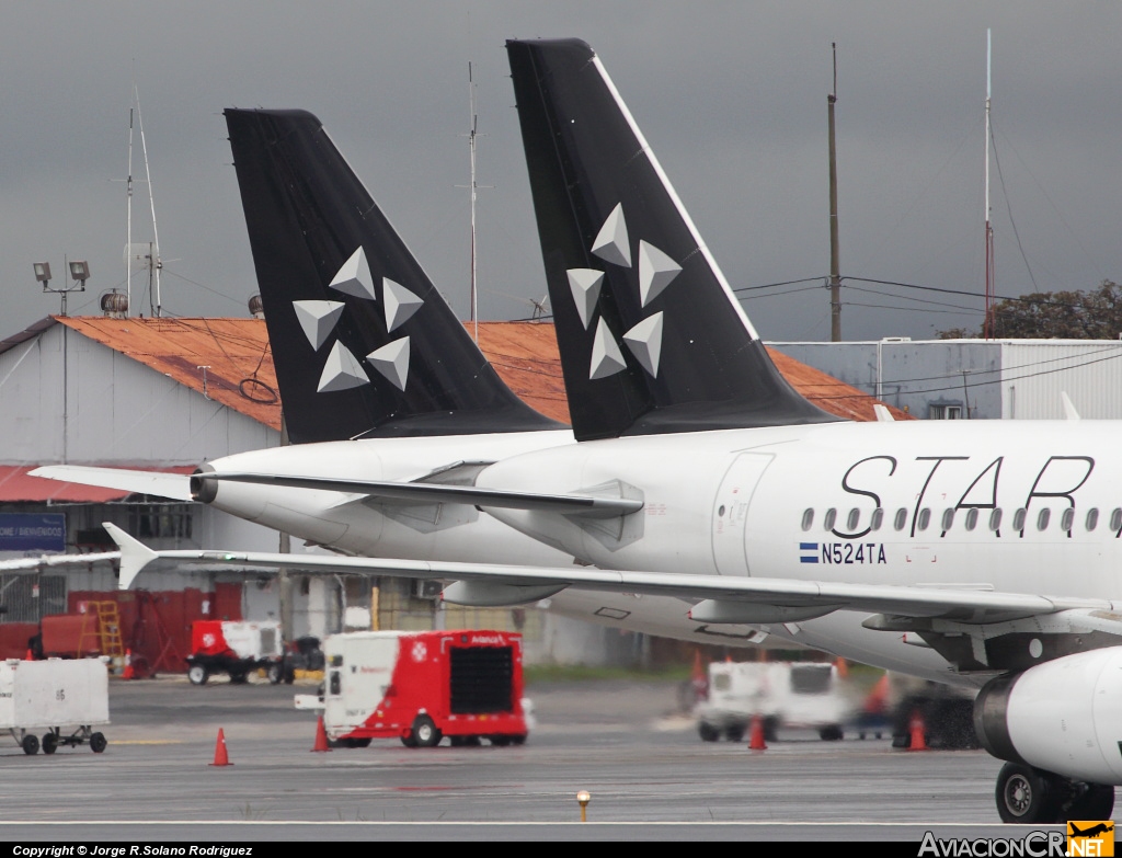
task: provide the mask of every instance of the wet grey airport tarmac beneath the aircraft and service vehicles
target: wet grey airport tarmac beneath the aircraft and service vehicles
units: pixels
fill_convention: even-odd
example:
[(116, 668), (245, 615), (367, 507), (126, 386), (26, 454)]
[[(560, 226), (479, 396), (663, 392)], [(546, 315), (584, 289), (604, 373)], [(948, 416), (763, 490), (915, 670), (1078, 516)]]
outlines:
[[(9, 842), (898, 840), (1010, 837), (984, 751), (894, 750), (781, 730), (765, 751), (703, 742), (665, 682), (527, 689), (522, 747), (313, 753), (314, 686), (111, 682), (104, 754), (0, 739)], [(213, 766), (219, 730), (231, 765)], [(576, 794), (591, 793), (579, 824)], [(255, 852), (260, 854), (260, 852)]]

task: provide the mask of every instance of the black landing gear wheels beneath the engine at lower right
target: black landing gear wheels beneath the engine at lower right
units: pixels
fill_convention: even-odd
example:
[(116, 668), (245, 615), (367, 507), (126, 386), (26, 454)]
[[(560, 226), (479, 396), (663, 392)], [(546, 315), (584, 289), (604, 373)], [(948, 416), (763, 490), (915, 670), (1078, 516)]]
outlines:
[(1048, 824), (1068, 819), (1110, 819), (1114, 787), (1072, 781), (1021, 763), (1006, 763), (997, 775), (1002, 822)]

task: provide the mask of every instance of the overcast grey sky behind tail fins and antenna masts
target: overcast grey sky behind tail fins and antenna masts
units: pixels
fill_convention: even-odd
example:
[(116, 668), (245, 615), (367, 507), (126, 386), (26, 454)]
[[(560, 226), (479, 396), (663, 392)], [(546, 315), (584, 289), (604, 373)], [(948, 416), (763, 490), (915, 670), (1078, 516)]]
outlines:
[[(486, 135), (478, 182), (494, 185), (478, 205), (480, 316), (527, 316), (528, 302), (507, 295), (545, 287), (503, 49), (513, 37), (592, 45), (735, 287), (828, 271), (836, 41), (843, 275), (981, 295), (991, 27), (999, 294), (1122, 277), (1115, 2), (7, 0), (0, 10), (0, 338), (58, 311), (35, 261), (50, 261), (61, 285), (64, 255), (89, 260), (72, 314), (123, 288), (134, 74), (165, 313), (245, 315), (257, 290), (221, 117), (237, 105), (318, 114), (466, 316), (469, 209), (456, 186), (468, 181), (471, 62)], [(147, 202), (137, 185), (135, 241), (149, 238)], [(749, 294), (765, 339), (828, 339), (820, 283)], [(843, 297), (845, 339), (981, 321), (981, 299), (963, 296), (849, 280)], [(147, 298), (135, 295), (134, 311), (148, 314)]]

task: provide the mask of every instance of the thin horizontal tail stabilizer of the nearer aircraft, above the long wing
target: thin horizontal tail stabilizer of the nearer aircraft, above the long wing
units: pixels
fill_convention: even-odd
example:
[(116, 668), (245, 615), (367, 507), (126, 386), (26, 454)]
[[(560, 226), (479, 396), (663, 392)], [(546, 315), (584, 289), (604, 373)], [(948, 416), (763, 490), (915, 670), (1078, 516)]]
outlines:
[[(43, 470), (43, 469), (40, 469)], [(482, 489), (475, 486), (447, 486), (435, 482), (387, 482), (344, 480), (333, 477), (295, 477), (277, 473), (205, 473), (204, 480), (252, 482), (260, 486), (285, 486), (300, 489), (323, 489), (386, 500), (421, 504), (470, 504), (481, 507), (541, 509), (582, 518), (615, 518), (637, 513), (643, 501), (632, 498), (597, 495), (537, 495), (527, 491)]]

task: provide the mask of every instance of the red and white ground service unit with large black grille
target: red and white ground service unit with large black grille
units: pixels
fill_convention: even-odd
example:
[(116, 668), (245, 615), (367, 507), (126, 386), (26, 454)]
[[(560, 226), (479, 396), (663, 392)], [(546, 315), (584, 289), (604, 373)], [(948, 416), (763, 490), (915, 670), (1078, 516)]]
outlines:
[(323, 712), (337, 747), (397, 737), (410, 748), (522, 745), (522, 636), (508, 631), (352, 631), (324, 646), (322, 693), (297, 709)]

